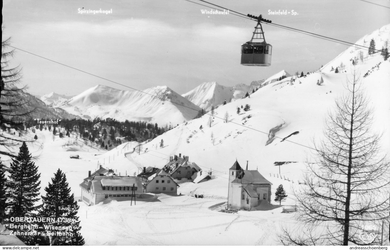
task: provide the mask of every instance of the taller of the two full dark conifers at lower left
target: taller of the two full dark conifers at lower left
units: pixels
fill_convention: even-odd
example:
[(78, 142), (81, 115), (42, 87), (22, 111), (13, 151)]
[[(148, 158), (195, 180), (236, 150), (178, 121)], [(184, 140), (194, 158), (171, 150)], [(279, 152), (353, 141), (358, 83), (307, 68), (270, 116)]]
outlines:
[[(38, 211), (39, 205), (35, 202), (39, 201), (39, 178), (38, 167), (31, 161), (31, 154), (28, 151), (27, 145), (23, 142), (19, 148), (18, 156), (12, 159), (11, 167), (9, 168), (9, 181), (7, 186), (7, 197), (9, 208), (8, 218), (10, 217), (32, 217), (34, 212)], [(14, 222), (16, 225), (26, 225), (28, 222)], [(30, 229), (24, 230), (28, 232)], [(31, 229), (32, 230), (32, 229)], [(26, 245), (34, 245), (34, 236), (20, 236), (20, 239)]]

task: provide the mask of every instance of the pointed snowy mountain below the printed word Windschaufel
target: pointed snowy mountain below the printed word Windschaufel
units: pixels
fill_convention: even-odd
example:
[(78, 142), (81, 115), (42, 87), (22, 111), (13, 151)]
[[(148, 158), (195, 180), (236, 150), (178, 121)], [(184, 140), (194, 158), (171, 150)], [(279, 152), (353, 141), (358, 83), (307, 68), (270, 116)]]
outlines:
[(216, 82), (202, 83), (193, 90), (183, 94), (182, 96), (193, 102), (200, 108), (210, 111), (211, 106), (223, 104), (225, 100), (236, 100), (243, 97), (246, 92), (252, 93), (252, 90), (258, 85), (245, 85), (243, 83), (226, 87)]

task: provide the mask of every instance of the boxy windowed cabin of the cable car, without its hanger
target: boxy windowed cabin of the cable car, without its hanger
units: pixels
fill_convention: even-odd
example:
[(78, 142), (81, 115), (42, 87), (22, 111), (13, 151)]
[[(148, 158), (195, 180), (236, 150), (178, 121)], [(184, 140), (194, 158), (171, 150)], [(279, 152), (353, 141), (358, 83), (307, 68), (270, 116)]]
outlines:
[(241, 45), (241, 64), (246, 66), (271, 66), (271, 44), (246, 43)]

